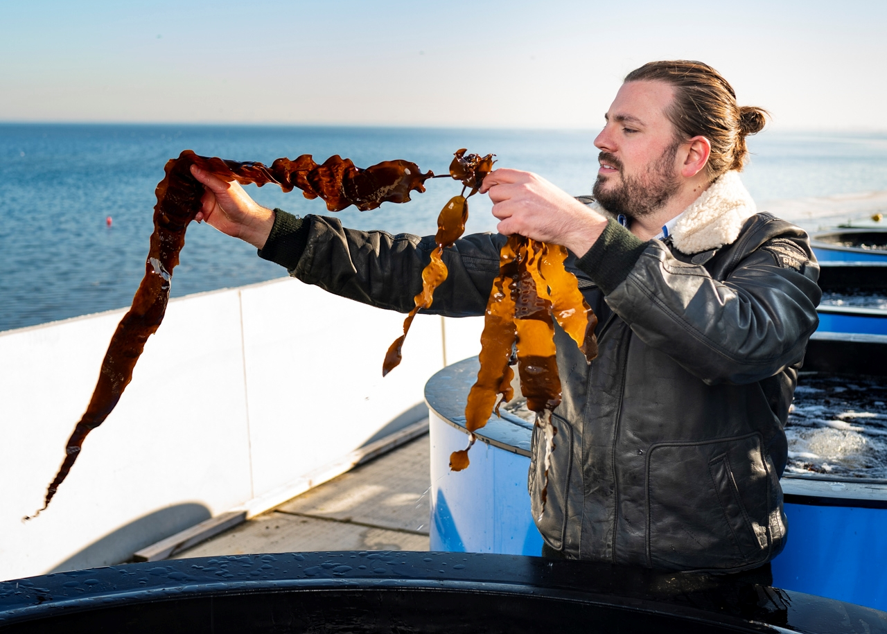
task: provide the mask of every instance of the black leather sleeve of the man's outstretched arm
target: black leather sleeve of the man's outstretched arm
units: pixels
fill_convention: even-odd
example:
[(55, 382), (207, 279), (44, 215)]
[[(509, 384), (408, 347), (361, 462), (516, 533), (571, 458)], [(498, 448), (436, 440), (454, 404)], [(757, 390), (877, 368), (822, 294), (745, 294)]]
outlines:
[[(436, 248), (433, 236), (345, 229), (336, 218), (312, 215), (304, 250), (290, 274), (302, 282), (382, 309), (409, 312), (422, 289), (422, 269)], [(423, 312), (483, 315), (498, 275), (498, 234), (478, 233), (444, 251), (447, 279)]]

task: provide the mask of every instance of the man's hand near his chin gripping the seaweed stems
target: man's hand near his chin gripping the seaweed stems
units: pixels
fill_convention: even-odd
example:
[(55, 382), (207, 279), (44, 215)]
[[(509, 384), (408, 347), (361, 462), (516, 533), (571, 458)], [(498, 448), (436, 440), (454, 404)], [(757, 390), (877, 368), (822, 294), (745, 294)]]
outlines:
[(499, 233), (562, 245), (580, 257), (607, 226), (604, 216), (532, 172), (496, 169), (480, 191), (490, 194)]

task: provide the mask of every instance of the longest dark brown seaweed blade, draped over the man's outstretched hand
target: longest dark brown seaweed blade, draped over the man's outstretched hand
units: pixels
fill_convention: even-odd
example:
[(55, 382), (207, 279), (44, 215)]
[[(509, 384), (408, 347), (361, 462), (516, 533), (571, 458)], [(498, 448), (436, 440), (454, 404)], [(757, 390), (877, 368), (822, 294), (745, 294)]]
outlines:
[[(157, 185), (154, 231), (145, 262), (145, 278), (138, 286), (132, 307), (122, 318), (102, 361), (98, 384), (90, 404), (67, 441), (65, 459), (59, 473), (46, 490), (43, 511), (65, 480), (87, 434), (105, 421), (132, 380), (132, 371), (145, 348), (145, 342), (163, 321), (169, 301), (169, 282), (184, 246), (187, 226), (200, 211), (204, 187), (191, 174), (196, 165), (223, 180), (240, 184), (278, 184), (284, 192), (302, 190), (305, 198), (321, 198), (330, 211), (354, 205), (361, 211), (375, 209), (382, 202), (406, 202), (410, 192), (424, 192), (424, 183), (434, 176), (422, 174), (407, 160), (387, 160), (372, 167), (357, 168), (349, 159), (332, 156), (318, 165), (309, 154), (296, 160), (281, 158), (265, 167), (257, 162), (235, 162), (198, 156), (185, 150), (167, 161), (166, 176)], [(464, 229), (464, 225), (463, 225)], [(444, 273), (445, 275), (445, 273)], [(37, 511), (34, 517), (40, 513)], [(30, 518), (24, 518), (28, 520)]]

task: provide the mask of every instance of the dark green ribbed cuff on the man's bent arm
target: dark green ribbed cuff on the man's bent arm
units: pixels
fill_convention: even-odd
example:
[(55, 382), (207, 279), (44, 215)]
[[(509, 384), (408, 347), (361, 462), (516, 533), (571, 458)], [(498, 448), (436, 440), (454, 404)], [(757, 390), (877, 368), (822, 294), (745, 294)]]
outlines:
[(576, 265), (608, 295), (624, 282), (646, 248), (646, 242), (610, 219), (600, 238)]

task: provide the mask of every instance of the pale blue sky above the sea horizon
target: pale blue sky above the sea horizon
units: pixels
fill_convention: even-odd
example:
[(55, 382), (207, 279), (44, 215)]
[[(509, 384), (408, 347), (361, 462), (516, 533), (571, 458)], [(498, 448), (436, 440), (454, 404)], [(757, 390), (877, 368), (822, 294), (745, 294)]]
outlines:
[(0, 121), (597, 128), (701, 59), (774, 129), (887, 129), (887, 2), (0, 0)]

